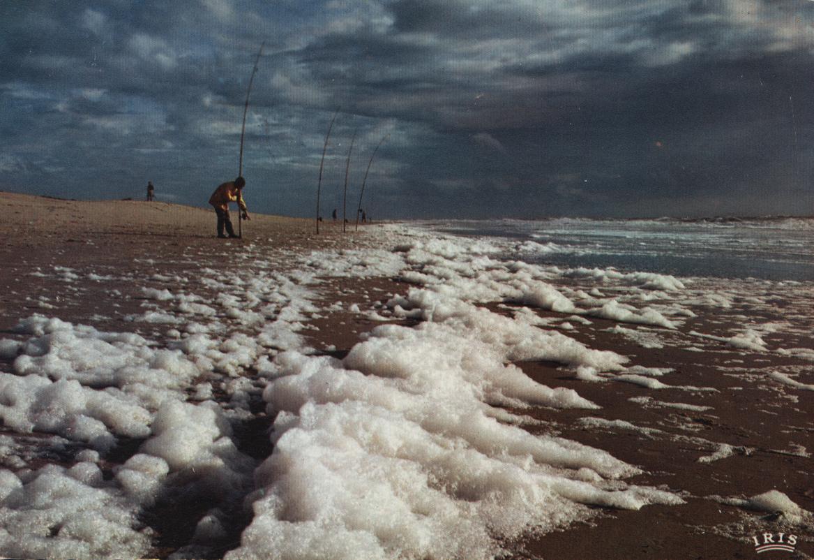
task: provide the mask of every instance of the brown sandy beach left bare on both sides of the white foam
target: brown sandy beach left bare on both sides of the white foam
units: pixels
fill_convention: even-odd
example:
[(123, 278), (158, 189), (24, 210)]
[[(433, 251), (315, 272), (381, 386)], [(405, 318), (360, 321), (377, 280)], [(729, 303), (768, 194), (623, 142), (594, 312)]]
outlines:
[[(0, 338), (19, 344), (2, 346), (2, 373), (22, 375), (18, 356), (25, 354), (25, 342), (37, 334), (20, 329), (19, 324), (32, 315), (87, 325), (100, 333), (134, 333), (148, 341), (145, 348), (151, 351), (186, 348), (182, 346), (189, 340), (186, 336), (200, 332), (190, 329), (190, 324), (203, 323), (200, 316), (213, 315), (224, 329), (211, 330), (208, 336), (220, 337), (217, 351), (225, 355), (230, 351), (228, 342), (238, 340), (237, 334), (267, 334), (261, 323), (272, 314), (260, 311), (263, 304), (278, 305), (274, 311), (278, 319), (284, 307), (275, 300), (278, 294), (309, 287), (313, 289), (311, 307), (287, 324), (296, 325), (298, 344), (312, 349), (311, 355), (335, 359), (346, 359), (366, 339), (365, 333), (383, 324), (415, 329), (427, 322), (417, 313), (399, 315), (392, 303), (407, 296), (416, 285), (415, 275), (323, 272), (318, 283), (292, 280), (301, 274), (303, 258), (313, 251), (320, 252), (315, 259), (330, 252), (338, 263), (348, 252), (361, 249), (403, 253), (405, 249), (381, 246), (383, 224), (365, 224), (359, 231), (349, 224), (344, 233), (341, 224), (329, 221), (322, 223), (317, 236), (313, 221), (253, 214), (251, 221), (243, 223), (243, 239), (221, 240), (214, 236), (214, 213), (164, 202), (64, 201), (3, 192), (0, 211), (5, 218), (0, 227), (4, 262)], [(328, 270), (325, 262), (314, 262), (313, 267)], [(429, 274), (428, 267), (424, 263), (421, 274)], [(256, 276), (244, 274), (247, 271)], [(224, 286), (248, 286), (255, 277), (279, 277), (281, 288), (265, 295), (258, 292), (257, 301), (248, 292), (234, 301), (223, 296)], [(550, 281), (558, 289), (574, 290), (568, 293), (605, 290), (584, 278)], [(687, 289), (692, 290), (709, 293), (698, 283)], [(179, 298), (178, 293), (195, 294), (195, 299)], [(622, 355), (628, 359), (625, 367), (640, 367), (640, 373), (619, 370), (613, 378), (590, 381), (586, 376), (591, 373), (585, 369), (575, 373), (562, 360), (514, 359), (514, 366), (533, 381), (574, 390), (598, 408), (520, 407), (510, 399), (503, 403), (492, 399), (490, 404), (525, 418), (521, 427), (531, 434), (581, 443), (637, 467), (637, 474), (623, 477), (626, 489), (648, 487), (683, 502), (649, 503), (640, 509), (586, 502), (580, 509), (581, 521), (543, 532), (529, 527), (520, 536), (501, 540), (505, 558), (758, 558), (756, 546), (764, 545), (767, 535), (778, 543), (788, 543), (794, 536), (793, 550), (771, 550), (759, 558), (812, 558), (814, 523), (807, 513), (814, 511), (811, 295), (810, 289), (767, 293), (761, 301), (771, 306), (759, 307), (737, 298), (729, 306), (699, 303), (692, 307), (693, 316), (676, 321), (675, 329), (600, 316), (580, 322), (574, 319), (574, 311), (552, 311), (512, 298), (471, 301), (506, 318), (515, 317), (522, 308), (522, 314), (528, 311), (536, 316), (536, 329), (561, 333), (591, 351)], [(658, 294), (653, 298), (659, 302)], [(249, 306), (258, 317), (256, 323), (242, 315)], [(388, 311), (377, 315), (377, 310)], [(179, 313), (187, 313), (189, 319), (172, 322)], [(749, 324), (787, 328), (764, 330), (759, 345), (729, 343)], [(212, 366), (211, 374), (190, 375), (173, 389), (190, 402), (213, 401), (230, 411), (231, 442), (245, 459), (235, 463), (233, 470), (248, 473), (238, 486), (251, 481), (251, 471), (274, 451), (269, 430), (275, 418), (265, 408), (274, 397), (263, 395), (263, 388), (278, 373), (264, 374), (263, 364), (286, 350), (280, 342), (285, 336), (275, 331), (274, 341), (258, 346), (256, 355), (243, 359), (236, 350), (228, 364)], [(184, 351), (193, 355), (188, 348)], [(37, 358), (36, 353), (31, 355)], [(602, 374), (601, 369), (593, 372), (594, 377)], [(663, 387), (659, 388), (659, 381), (664, 381)], [(87, 386), (94, 383), (97, 388), (104, 386), (98, 381)], [(241, 383), (245, 383), (243, 392), (235, 389)], [(13, 400), (0, 397), (4, 406)], [(115, 443), (94, 448), (61, 429), (37, 426), (21, 430), (5, 422), (0, 431), (0, 467), (20, 473), (24, 482), (46, 465), (70, 470), (77, 463), (90, 462), (102, 474), (104, 482), (97, 481), (98, 487), (112, 487), (120, 480), (116, 477), (122, 465), (144, 452), (151, 437), (112, 432)], [(55, 434), (59, 441), (53, 439)], [(89, 449), (95, 449), (95, 455), (88, 454)], [(173, 463), (168, 460), (168, 464), (172, 474)], [(168, 558), (182, 549), (187, 554), (183, 558), (221, 558), (236, 549), (252, 523), (250, 511), (243, 505), (210, 500), (207, 492), (190, 495), (188, 487), (177, 483), (180, 478), (173, 479), (175, 490), (166, 490), (133, 510), (134, 524), (149, 529), (147, 558)], [(255, 480), (260, 478), (255, 475)], [(781, 492), (799, 509), (784, 507), (786, 502), (777, 495), (771, 495), (777, 500), (753, 499), (772, 491)], [(243, 488), (243, 497), (251, 492), (252, 488)], [(216, 506), (232, 517), (220, 518), (221, 530), (213, 531), (208, 540), (195, 540), (201, 520)], [(16, 549), (0, 549), (4, 553), (16, 553)]]

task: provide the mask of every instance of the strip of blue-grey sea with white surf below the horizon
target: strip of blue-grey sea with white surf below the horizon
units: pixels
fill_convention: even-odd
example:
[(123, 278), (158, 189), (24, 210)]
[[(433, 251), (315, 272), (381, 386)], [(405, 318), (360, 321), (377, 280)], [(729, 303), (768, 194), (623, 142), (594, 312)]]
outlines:
[(534, 241), (549, 250), (506, 257), (561, 267), (814, 280), (814, 218), (551, 218), (436, 221), (422, 226), (457, 235)]

